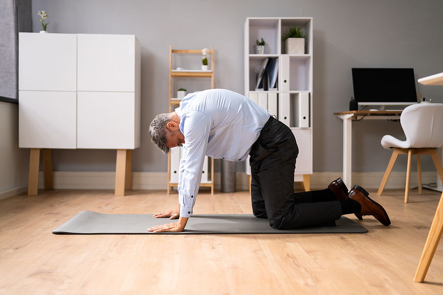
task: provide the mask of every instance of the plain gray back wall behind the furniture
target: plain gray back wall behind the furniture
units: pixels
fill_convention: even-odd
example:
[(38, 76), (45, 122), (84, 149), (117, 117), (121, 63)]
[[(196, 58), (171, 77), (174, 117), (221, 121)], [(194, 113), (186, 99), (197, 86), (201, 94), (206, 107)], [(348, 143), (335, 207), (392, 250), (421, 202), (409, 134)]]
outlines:
[[(314, 172), (342, 171), (342, 121), (333, 113), (348, 110), (351, 67), (413, 67), (416, 78), (443, 71), (441, 0), (32, 0), (34, 31), (40, 29), (38, 10), (48, 13), (49, 32), (135, 34), (139, 39), (142, 141), (132, 166), (137, 172), (167, 169), (167, 157), (150, 142), (148, 126), (168, 108), (169, 45), (214, 45), (216, 88), (243, 93), (246, 17), (314, 18)], [(443, 88), (417, 84), (417, 92), (443, 102)], [(402, 138), (400, 124), (361, 121), (354, 126), (353, 170), (384, 171), (391, 152), (381, 148), (380, 139), (384, 134)], [(115, 153), (54, 150), (54, 170), (113, 171)], [(423, 171), (434, 170), (426, 158)], [(397, 164), (394, 170), (405, 168)]]

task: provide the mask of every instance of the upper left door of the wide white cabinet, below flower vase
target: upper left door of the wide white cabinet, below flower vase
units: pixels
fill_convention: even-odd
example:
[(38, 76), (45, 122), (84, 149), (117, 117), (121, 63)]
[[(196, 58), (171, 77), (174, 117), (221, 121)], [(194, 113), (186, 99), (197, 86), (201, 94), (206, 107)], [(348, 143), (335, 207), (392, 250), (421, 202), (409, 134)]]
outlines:
[(19, 33), (20, 90), (77, 90), (77, 35)]

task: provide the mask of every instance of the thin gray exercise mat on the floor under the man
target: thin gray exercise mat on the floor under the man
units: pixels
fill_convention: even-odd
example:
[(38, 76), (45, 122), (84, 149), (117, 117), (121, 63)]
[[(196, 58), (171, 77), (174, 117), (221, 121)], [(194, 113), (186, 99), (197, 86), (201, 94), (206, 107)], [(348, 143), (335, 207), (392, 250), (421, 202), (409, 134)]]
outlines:
[(122, 235), (122, 234), (363, 234), (361, 225), (342, 216), (337, 226), (309, 227), (296, 230), (274, 230), (267, 219), (253, 214), (193, 214), (182, 233), (152, 233), (147, 229), (175, 222), (169, 218), (154, 218), (153, 214), (102, 214), (81, 211), (52, 231), (56, 235)]

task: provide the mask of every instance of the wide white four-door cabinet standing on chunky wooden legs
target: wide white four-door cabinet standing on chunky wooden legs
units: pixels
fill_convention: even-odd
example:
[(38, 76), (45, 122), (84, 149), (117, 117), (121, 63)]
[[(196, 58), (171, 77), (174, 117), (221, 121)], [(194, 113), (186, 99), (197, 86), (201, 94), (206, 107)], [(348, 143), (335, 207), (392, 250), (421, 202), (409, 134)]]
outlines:
[(28, 194), (40, 150), (52, 188), (51, 148), (117, 149), (116, 195), (131, 187), (140, 147), (141, 49), (135, 35), (19, 33), (19, 147), (31, 148)]

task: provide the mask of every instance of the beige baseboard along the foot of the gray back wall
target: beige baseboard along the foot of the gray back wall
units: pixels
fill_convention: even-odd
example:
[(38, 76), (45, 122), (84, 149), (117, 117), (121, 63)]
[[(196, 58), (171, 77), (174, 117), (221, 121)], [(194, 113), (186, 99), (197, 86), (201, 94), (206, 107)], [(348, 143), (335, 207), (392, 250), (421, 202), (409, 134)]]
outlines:
[[(352, 173), (352, 185), (359, 184), (364, 188), (379, 188), (384, 172), (354, 172)], [(214, 188), (220, 190), (221, 173), (214, 173)], [(311, 189), (323, 189), (338, 178), (343, 177), (341, 172), (315, 172), (311, 175)], [(422, 172), (422, 183), (435, 183), (437, 172)], [(58, 189), (114, 189), (115, 172), (57, 172), (53, 173), (54, 188)], [(237, 172), (237, 190), (248, 190), (249, 180), (245, 172)], [(166, 172), (133, 172), (132, 188), (158, 190), (166, 189)], [(406, 172), (392, 172), (386, 184), (389, 188), (404, 188), (406, 183)], [(297, 187), (298, 184), (295, 184)], [(417, 173), (411, 173), (411, 187), (418, 185)], [(39, 175), (39, 188), (44, 188), (43, 172)], [(24, 187), (23, 187), (24, 188)], [(23, 189), (18, 188), (18, 189)], [(202, 188), (207, 189), (207, 188)], [(27, 186), (25, 191), (27, 190)], [(5, 193), (0, 193), (1, 196)], [(21, 193), (21, 192), (19, 192)], [(7, 197), (4, 197), (7, 198)]]

